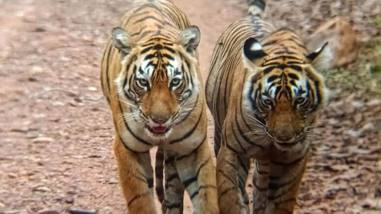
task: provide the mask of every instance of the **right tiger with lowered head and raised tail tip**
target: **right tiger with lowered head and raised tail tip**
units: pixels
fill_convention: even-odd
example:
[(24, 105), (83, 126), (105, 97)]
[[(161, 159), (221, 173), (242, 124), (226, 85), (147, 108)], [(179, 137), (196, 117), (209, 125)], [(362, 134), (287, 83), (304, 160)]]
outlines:
[(249, 213), (250, 167), (252, 213), (293, 213), (329, 96), (318, 72), (332, 59), (327, 43), (309, 52), (294, 31), (264, 22), (264, 8), (264, 0), (250, 0), (247, 16), (221, 34), (206, 81), (221, 214)]

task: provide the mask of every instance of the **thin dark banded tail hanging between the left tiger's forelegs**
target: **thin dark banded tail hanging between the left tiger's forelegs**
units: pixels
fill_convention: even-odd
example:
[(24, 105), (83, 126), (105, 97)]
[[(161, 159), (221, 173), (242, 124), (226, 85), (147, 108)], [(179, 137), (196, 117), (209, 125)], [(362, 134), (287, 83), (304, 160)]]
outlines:
[(164, 150), (157, 148), (155, 157), (155, 184), (156, 184), (156, 194), (160, 201), (163, 203), (164, 200), (164, 186), (163, 186), (163, 171), (164, 171)]

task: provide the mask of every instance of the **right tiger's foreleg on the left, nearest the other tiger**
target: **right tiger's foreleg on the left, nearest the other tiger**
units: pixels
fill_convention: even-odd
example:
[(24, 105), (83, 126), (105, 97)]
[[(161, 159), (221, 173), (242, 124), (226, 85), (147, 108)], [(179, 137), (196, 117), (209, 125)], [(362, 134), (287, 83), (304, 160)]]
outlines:
[(239, 165), (237, 154), (222, 145), (216, 169), (220, 214), (249, 214), (247, 194), (244, 191), (247, 172), (244, 177), (245, 173), (242, 173)]

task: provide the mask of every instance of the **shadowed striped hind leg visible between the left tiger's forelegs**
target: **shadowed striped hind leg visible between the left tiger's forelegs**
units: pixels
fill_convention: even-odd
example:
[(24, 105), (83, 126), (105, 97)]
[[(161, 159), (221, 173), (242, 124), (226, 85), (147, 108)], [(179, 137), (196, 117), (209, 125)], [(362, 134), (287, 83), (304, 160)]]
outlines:
[(175, 154), (165, 151), (165, 188), (162, 203), (163, 214), (182, 214), (184, 185), (177, 173)]

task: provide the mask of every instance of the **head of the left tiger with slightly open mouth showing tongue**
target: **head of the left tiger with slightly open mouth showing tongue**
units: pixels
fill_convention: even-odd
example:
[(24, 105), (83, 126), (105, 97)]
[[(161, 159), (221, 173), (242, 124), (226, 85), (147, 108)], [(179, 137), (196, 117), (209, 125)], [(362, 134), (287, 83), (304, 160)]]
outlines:
[(130, 108), (123, 120), (144, 125), (150, 136), (168, 136), (171, 126), (196, 105), (200, 30), (191, 26), (174, 41), (156, 36), (136, 43), (127, 31), (115, 28), (112, 39), (121, 54), (115, 80), (119, 100)]

